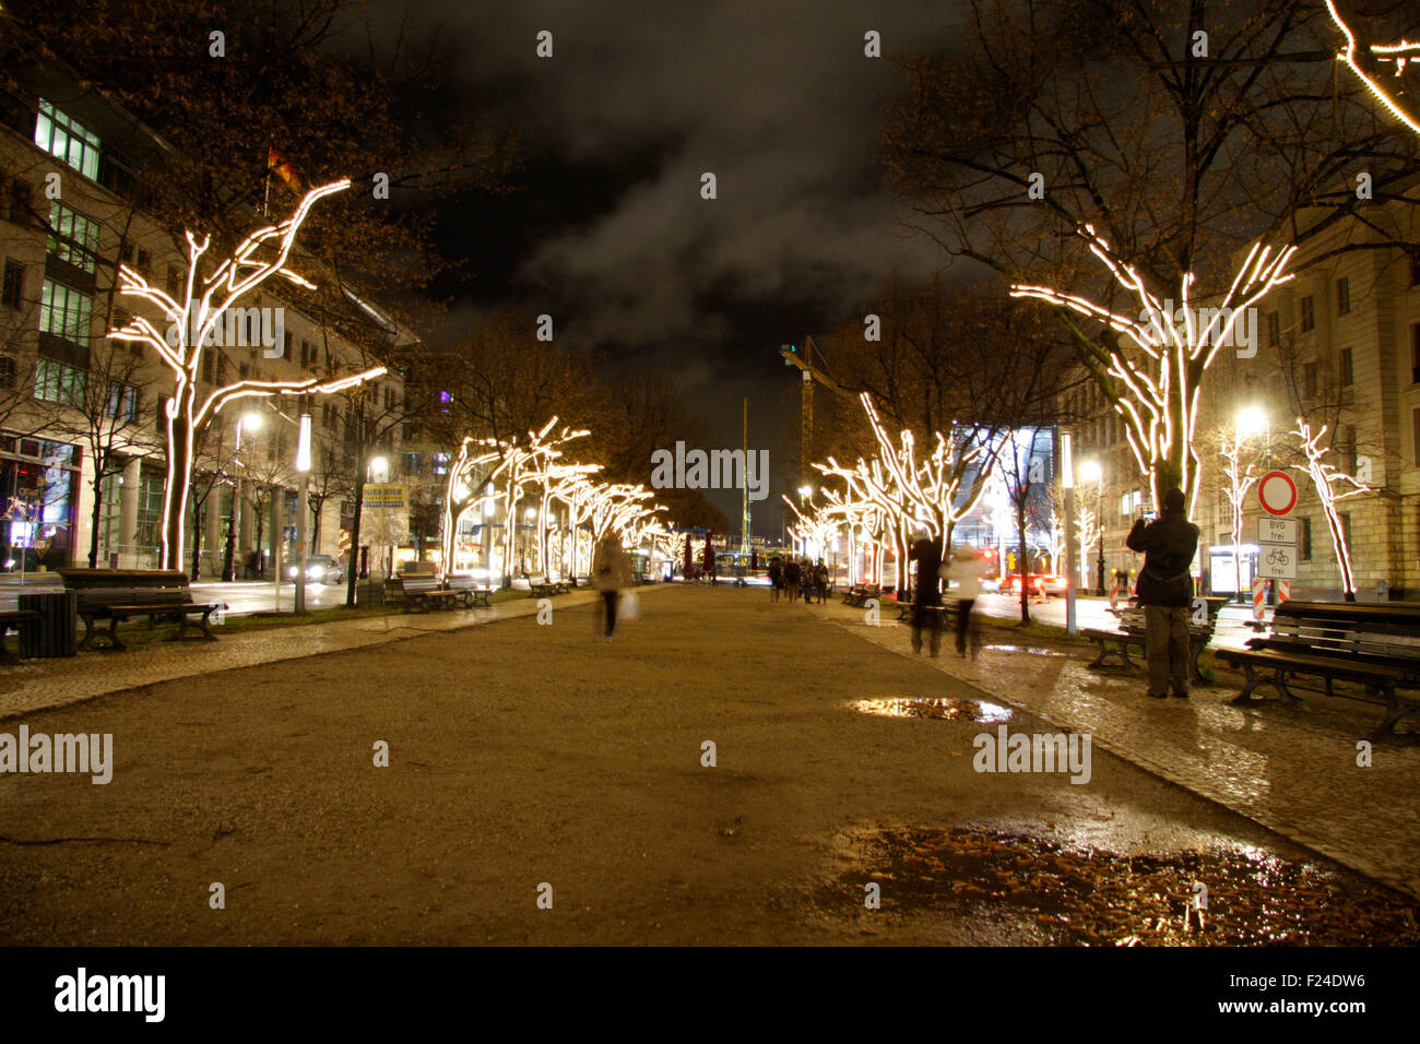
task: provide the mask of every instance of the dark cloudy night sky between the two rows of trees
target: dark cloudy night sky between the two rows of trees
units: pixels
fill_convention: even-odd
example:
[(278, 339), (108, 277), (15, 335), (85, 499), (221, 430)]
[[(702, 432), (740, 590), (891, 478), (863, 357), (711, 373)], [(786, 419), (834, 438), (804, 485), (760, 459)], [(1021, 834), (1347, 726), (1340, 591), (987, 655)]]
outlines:
[[(459, 55), (446, 104), (521, 135), (523, 190), (440, 222), (474, 259), (446, 290), (665, 369), (719, 446), (740, 445), (748, 395), (777, 501), (798, 422), (778, 347), (828, 334), (889, 271), (941, 264), (905, 233), (875, 153), (892, 55), (947, 45), (951, 7), (430, 3), (417, 17)], [(552, 58), (535, 55), (540, 30)], [(863, 55), (868, 30), (883, 58)], [(716, 200), (700, 199), (707, 170)], [(738, 517), (736, 496), (717, 503)]]

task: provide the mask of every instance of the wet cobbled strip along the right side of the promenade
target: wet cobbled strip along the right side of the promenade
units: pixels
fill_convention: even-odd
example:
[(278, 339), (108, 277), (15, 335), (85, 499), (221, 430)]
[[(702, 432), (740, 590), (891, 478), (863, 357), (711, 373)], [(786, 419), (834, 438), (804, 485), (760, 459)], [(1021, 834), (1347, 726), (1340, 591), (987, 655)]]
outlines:
[[(832, 616), (870, 642), (913, 655), (903, 624), (869, 626), (851, 611)], [(1420, 896), (1420, 744), (1384, 739), (1373, 746), (1372, 767), (1356, 764), (1358, 741), (1380, 723), (1380, 706), (1316, 696), (1306, 710), (1234, 707), (1238, 689), (1225, 680), (1194, 687), (1189, 700), (1156, 700), (1142, 670), (1096, 672), (1085, 649), (1065, 655), (1025, 635), (993, 634), (974, 663), (957, 658), (950, 639), (940, 658), (919, 659), (923, 669), (1089, 733), (1095, 744), (1170, 783)]]

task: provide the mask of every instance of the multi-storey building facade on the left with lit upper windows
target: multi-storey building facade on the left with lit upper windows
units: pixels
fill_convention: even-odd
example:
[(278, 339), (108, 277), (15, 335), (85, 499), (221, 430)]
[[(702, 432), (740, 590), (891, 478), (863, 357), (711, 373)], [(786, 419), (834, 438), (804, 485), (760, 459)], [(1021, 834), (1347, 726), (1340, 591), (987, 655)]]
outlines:
[[(131, 314), (169, 328), (156, 308), (116, 293), (118, 264), (180, 300), (186, 244), (145, 210), (146, 193), (125, 161), (156, 138), (135, 145), (136, 121), (91, 88), (68, 87), (51, 64), (28, 78), (16, 72), (0, 91), (0, 567), (53, 568), (92, 555), (101, 567), (151, 568), (173, 375), (151, 345), (106, 332)], [(273, 207), (273, 220), (284, 216)], [(251, 217), (253, 227), (263, 220)], [(371, 365), (331, 322), (273, 290), (263, 284), (220, 324), (217, 342), (203, 349), (202, 396), (237, 379), (300, 381)], [(372, 310), (354, 297), (348, 304)], [(373, 410), (403, 399), (393, 371), (361, 393)], [(314, 435), (310, 550), (341, 551), (361, 456), (352, 453), (351, 399), (248, 398), (203, 435), (189, 572), (216, 578), (229, 555), (239, 577), (266, 572), (274, 554), (295, 550), (301, 413), (311, 415)], [(390, 477), (398, 440), (398, 425), (385, 426), (378, 452), (395, 467)]]

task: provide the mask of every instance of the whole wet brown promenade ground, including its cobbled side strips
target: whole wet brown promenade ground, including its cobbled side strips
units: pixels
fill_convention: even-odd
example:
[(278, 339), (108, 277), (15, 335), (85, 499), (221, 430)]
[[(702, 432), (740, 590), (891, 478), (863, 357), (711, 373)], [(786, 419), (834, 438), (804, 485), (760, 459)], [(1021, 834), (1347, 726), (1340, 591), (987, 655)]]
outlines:
[[(586, 594), (81, 658), (112, 695), (23, 720), (112, 733), (114, 783), (0, 776), (0, 942), (1413, 940), (1413, 902), (1257, 825), (1410, 879), (1417, 751), (1321, 763), (1373, 707), (1146, 705), (1081, 646), (932, 660), (834, 605), (653, 591), (612, 643)], [(997, 730), (1092, 733), (1088, 780), (981, 771)]]

